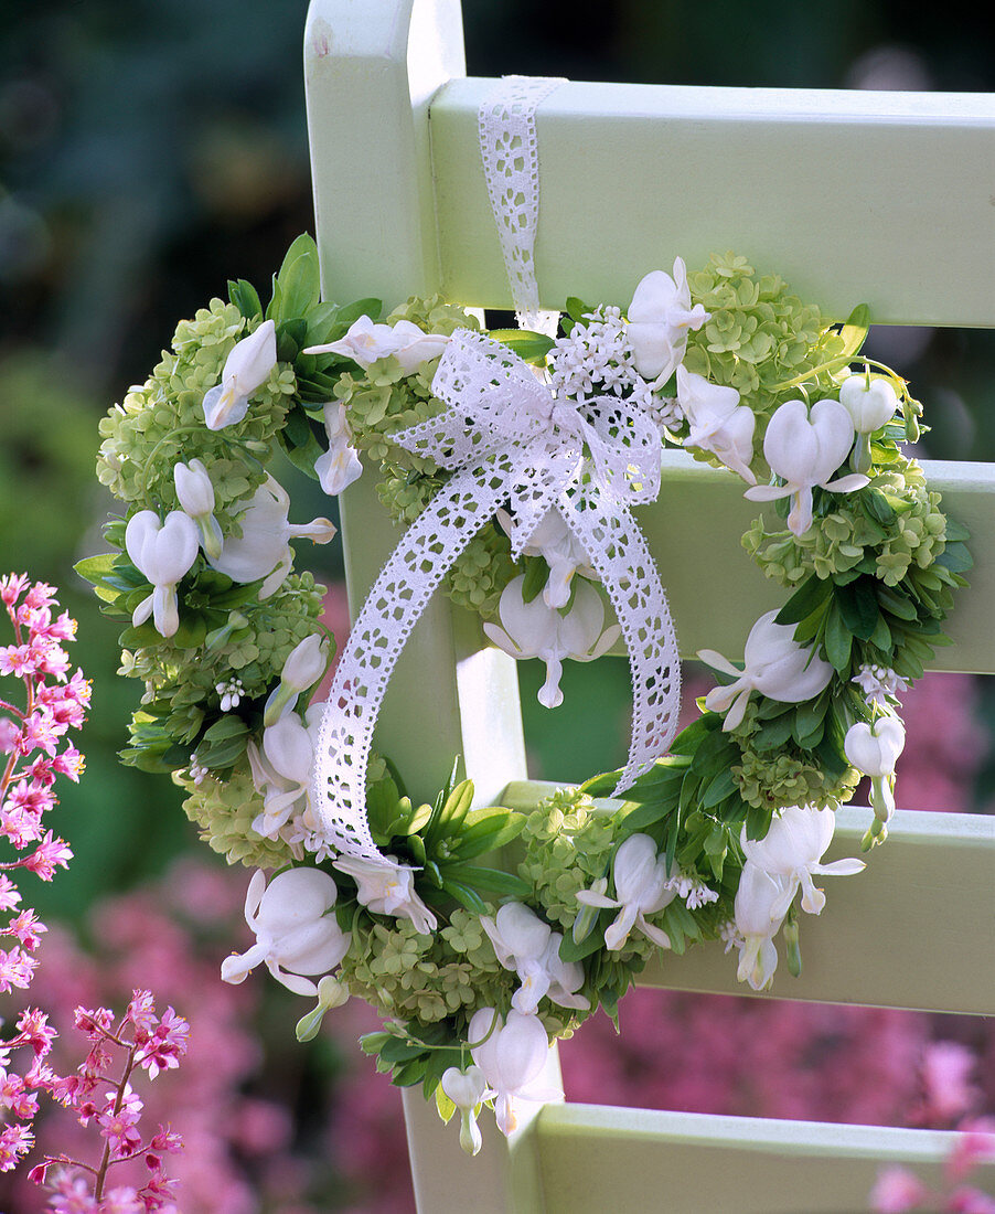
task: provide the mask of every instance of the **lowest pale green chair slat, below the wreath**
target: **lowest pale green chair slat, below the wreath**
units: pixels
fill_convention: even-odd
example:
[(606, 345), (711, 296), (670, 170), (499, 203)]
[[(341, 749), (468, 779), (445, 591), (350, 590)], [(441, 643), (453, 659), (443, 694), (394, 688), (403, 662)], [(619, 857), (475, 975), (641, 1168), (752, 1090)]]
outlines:
[[(843, 1214), (886, 1164), (942, 1187), (956, 1135), (879, 1125), (547, 1105), (534, 1127), (545, 1214)], [(982, 1187), (995, 1168), (976, 1174)]]

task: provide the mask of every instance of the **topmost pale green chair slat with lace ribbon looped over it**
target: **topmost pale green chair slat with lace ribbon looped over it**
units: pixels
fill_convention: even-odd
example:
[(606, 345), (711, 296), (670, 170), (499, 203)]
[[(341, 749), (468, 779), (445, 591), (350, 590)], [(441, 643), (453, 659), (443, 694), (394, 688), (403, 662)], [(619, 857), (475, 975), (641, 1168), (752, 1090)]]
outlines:
[[(443, 290), (507, 307), (477, 147), (493, 87), (436, 96), (432, 165)], [(734, 249), (836, 318), (995, 324), (990, 96), (569, 83), (538, 132), (547, 307), (626, 304), (675, 255)]]

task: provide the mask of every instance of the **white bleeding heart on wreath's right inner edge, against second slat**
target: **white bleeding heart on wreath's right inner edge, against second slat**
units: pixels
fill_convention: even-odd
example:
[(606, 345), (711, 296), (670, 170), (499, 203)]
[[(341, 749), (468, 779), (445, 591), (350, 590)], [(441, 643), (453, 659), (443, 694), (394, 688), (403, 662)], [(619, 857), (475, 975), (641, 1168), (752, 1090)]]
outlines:
[(726, 713), (722, 724), (726, 731), (734, 730), (743, 720), (754, 691), (784, 704), (801, 704), (829, 686), (832, 666), (818, 657), (812, 646), (797, 643), (791, 624), (775, 624), (777, 615), (777, 611), (769, 611), (750, 629), (743, 652), (745, 670), (737, 670), (715, 649), (698, 653), (710, 666), (735, 676), (735, 682), (713, 687), (705, 697), (710, 713)]

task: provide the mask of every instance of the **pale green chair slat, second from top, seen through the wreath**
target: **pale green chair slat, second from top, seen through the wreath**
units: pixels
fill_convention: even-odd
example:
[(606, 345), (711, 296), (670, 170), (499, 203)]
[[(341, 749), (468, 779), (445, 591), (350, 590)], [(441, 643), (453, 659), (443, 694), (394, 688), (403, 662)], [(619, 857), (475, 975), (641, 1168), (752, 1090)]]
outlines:
[[(931, 668), (993, 674), (995, 465), (925, 460), (922, 466), (931, 488), (943, 495), (946, 514), (971, 529), (974, 557), (967, 574), (971, 585), (957, 591), (949, 620), (955, 643), (938, 648)], [(684, 658), (709, 648), (739, 660), (757, 617), (788, 597), (743, 550), (743, 533), (760, 514), (743, 490), (738, 476), (667, 450), (659, 499), (636, 511), (667, 591)]]

